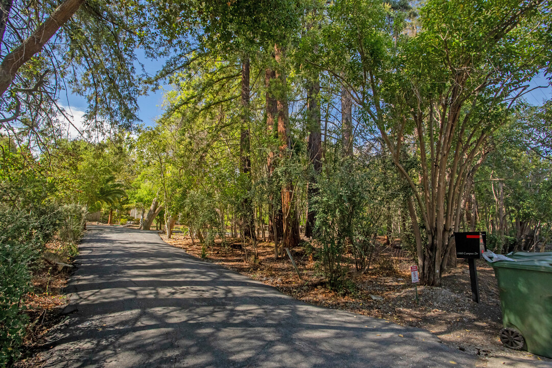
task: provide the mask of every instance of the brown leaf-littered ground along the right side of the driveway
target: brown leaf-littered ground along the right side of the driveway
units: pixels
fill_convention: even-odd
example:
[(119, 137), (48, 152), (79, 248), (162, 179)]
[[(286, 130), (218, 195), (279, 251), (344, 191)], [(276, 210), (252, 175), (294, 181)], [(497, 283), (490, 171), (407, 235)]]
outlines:
[[(201, 246), (182, 234), (172, 239), (161, 235), (174, 247), (200, 258)], [(275, 259), (273, 243), (258, 244), (258, 260), (244, 262), (240, 239), (216, 242), (207, 249), (205, 260), (220, 264), (267, 285), (277, 287), (284, 294), (314, 305), (347, 310), (366, 316), (385, 318), (402, 326), (427, 329), (442, 340), (466, 353), (492, 358), (510, 366), (512, 361), (530, 364), (546, 360), (527, 351), (507, 349), (498, 339), (502, 328), (501, 307), (497, 282), (492, 267), (483, 260), (476, 260), (479, 278), (480, 303), (471, 300), (468, 263), (459, 262), (457, 268), (443, 276), (442, 287), (417, 286), (411, 282), (412, 258), (407, 252), (391, 246), (380, 246), (379, 262), (364, 274), (355, 273), (354, 267), (347, 275), (346, 286), (341, 292), (327, 288), (316, 260), (306, 254), (304, 247), (290, 249), (298, 265), (298, 278), (289, 258)], [(247, 248), (252, 259), (253, 249)], [(503, 358), (504, 361), (500, 361)], [(550, 360), (552, 362), (552, 360)]]

